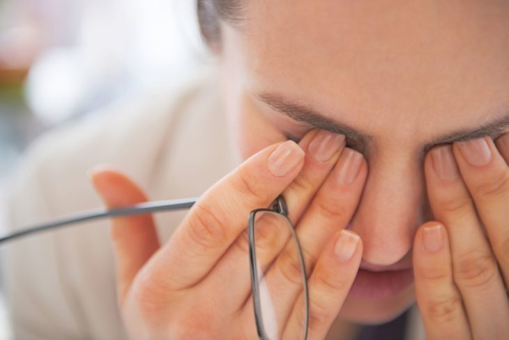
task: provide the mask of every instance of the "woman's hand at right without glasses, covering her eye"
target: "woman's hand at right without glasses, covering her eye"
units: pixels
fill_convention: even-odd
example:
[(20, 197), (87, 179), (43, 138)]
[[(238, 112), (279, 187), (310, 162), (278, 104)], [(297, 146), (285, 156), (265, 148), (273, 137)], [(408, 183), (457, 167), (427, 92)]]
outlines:
[[(413, 247), (427, 339), (509, 337), (509, 133), (435, 147)], [(444, 228), (445, 227), (445, 228)]]

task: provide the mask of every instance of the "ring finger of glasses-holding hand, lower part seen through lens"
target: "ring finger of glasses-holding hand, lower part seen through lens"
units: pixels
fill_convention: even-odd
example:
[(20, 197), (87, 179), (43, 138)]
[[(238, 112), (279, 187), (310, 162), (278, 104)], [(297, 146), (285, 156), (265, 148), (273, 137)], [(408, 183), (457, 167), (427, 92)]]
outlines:
[[(367, 164), (363, 156), (357, 151), (345, 148), (296, 227), (306, 273), (312, 272), (328, 240), (337, 230), (347, 227), (358, 205), (366, 175)], [(292, 303), (301, 294), (299, 266), (292, 244), (287, 244), (266, 273), (268, 287), (284, 287), (280, 294), (273, 297), (280, 318), (287, 318)]]

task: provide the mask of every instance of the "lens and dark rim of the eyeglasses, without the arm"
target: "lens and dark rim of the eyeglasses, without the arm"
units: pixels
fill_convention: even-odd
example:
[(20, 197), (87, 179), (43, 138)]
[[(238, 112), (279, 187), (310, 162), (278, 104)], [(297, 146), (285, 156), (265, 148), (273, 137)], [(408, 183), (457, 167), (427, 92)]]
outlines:
[[(278, 320), (278, 316), (296, 313), (303, 317), (301, 339), (307, 339), (309, 299), (304, 258), (295, 228), (288, 219), (287, 204), (282, 195), (273, 202), (270, 209), (255, 209), (250, 213), (248, 235), (251, 290), (259, 338), (278, 339), (283, 328), (278, 323), (284, 323), (284, 320)], [(295, 269), (296, 284), (301, 288), (294, 291), (296, 294), (303, 293), (303, 299), (294, 297), (294, 304), (284, 303), (284, 297), (291, 297), (284, 291), (278, 277), (271, 276), (270, 269), (275, 267), (278, 258), (284, 257)], [(292, 308), (284, 311), (285, 306)]]

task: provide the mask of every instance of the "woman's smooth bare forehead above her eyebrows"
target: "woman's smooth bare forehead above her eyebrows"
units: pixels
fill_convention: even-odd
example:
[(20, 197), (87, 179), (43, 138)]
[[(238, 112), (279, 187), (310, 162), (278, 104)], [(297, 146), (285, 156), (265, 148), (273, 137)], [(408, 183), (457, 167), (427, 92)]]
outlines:
[(250, 87), (351, 126), (427, 138), (508, 108), (509, 1), (250, 1), (247, 14)]

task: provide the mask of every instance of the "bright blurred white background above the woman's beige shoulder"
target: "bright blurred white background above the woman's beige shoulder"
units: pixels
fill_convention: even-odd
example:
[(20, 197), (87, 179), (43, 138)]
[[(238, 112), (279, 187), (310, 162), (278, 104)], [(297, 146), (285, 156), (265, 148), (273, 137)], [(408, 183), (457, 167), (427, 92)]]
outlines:
[[(0, 0), (0, 233), (3, 194), (41, 133), (207, 58), (190, 0)], [(0, 339), (10, 339), (0, 287)]]

